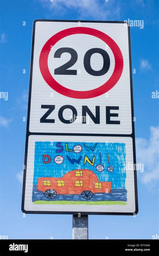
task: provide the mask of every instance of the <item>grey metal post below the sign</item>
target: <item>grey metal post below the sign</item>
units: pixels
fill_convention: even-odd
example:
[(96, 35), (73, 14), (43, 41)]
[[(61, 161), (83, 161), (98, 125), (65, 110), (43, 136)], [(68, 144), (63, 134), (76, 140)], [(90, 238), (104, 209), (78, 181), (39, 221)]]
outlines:
[(88, 239), (88, 215), (72, 215), (72, 239)]

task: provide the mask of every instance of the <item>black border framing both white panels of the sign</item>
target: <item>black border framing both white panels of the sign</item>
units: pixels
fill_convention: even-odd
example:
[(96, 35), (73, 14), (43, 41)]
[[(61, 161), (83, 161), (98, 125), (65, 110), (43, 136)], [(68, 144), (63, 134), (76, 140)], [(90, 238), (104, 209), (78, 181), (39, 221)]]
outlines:
[[(91, 134), (91, 133), (42, 133), (30, 132), (30, 109), (31, 109), (31, 91), (32, 91), (32, 75), (33, 75), (33, 58), (34, 58), (34, 41), (35, 41), (35, 25), (36, 22), (83, 22), (83, 23), (126, 23), (128, 25), (128, 44), (129, 44), (129, 69), (130, 69), (130, 94), (131, 94), (131, 120), (132, 133), (131, 134)], [(24, 209), (25, 200), (25, 183), (27, 174), (27, 156), (28, 156), (28, 140), (30, 135), (67, 135), (67, 136), (109, 136), (109, 137), (131, 137), (133, 139), (133, 158), (136, 164), (136, 148), (135, 148), (135, 125), (134, 125), (134, 101), (133, 101), (133, 81), (132, 81), (132, 66), (131, 66), (131, 42), (130, 42), (130, 26), (128, 22), (124, 21), (83, 21), (83, 20), (35, 20), (33, 22), (33, 36), (32, 36), (32, 51), (31, 51), (31, 65), (30, 65), (30, 82), (29, 82), (29, 98), (28, 98), (28, 114), (27, 114), (27, 131), (25, 140), (25, 154), (24, 154), (24, 173), (23, 173), (23, 188), (22, 188), (22, 203), (21, 211), (26, 214), (74, 214), (78, 215), (136, 215), (138, 213), (138, 189), (137, 189), (137, 171), (134, 169), (134, 183), (135, 183), (135, 206), (136, 210), (133, 213), (110, 213), (110, 212), (55, 212), (55, 211), (26, 211)]]

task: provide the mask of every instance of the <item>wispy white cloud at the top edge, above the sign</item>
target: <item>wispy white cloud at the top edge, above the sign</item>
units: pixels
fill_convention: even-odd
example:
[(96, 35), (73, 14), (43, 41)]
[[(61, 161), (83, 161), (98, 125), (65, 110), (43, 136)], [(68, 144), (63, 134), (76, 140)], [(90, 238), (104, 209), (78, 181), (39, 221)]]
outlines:
[(49, 8), (51, 11), (59, 12), (59, 15), (63, 15), (66, 11), (75, 10), (80, 14), (80, 18), (83, 17), (92, 17), (96, 20), (98, 19), (107, 19), (112, 17), (112, 8), (113, 15), (119, 15), (120, 8), (116, 4), (116, 1), (111, 0), (106, 2), (105, 0), (40, 0), (43, 7)]

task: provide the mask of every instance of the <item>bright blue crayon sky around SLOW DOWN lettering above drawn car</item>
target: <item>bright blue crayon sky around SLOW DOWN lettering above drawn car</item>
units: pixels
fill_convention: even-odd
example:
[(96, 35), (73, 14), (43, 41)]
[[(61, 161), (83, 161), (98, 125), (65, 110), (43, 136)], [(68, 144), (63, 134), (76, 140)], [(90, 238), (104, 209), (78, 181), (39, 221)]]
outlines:
[[(75, 169), (90, 169), (98, 177), (99, 181), (111, 181), (112, 189), (125, 189), (126, 170), (124, 168), (125, 162), (125, 143), (105, 143), (105, 142), (69, 142), (62, 141), (63, 151), (56, 153), (56, 150), (60, 150), (56, 144), (60, 141), (36, 141), (35, 142), (35, 162), (34, 162), (34, 182), (37, 184), (39, 177), (59, 177), (61, 178), (66, 172)], [(65, 143), (68, 144), (68, 149), (72, 149), (75, 145), (81, 145), (83, 150), (80, 153), (74, 153), (66, 151)], [(92, 147), (96, 144), (94, 151), (87, 150), (84, 146)], [(99, 172), (96, 170), (97, 164), (100, 164), (100, 152), (101, 152), (101, 164), (104, 166), (104, 170)], [(109, 154), (110, 163), (108, 163), (107, 153)], [(43, 155), (49, 155), (51, 157), (50, 163), (43, 163)], [(61, 155), (64, 157), (64, 161), (61, 164), (54, 162), (55, 156)], [(87, 156), (91, 161), (95, 155), (94, 165), (90, 165), (88, 162), (84, 165), (84, 158)], [(71, 159), (78, 159), (82, 156), (80, 163), (74, 162), (72, 164), (66, 156)], [(47, 160), (47, 158), (46, 158)], [(80, 165), (80, 168), (79, 168)], [(108, 166), (113, 166), (113, 172), (107, 170)]]

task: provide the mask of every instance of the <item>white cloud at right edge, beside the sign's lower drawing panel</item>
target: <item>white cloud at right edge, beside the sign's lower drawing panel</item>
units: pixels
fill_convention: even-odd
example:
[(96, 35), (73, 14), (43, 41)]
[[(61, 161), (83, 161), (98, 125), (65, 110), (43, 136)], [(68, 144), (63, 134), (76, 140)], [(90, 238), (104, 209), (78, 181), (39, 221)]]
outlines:
[(141, 181), (151, 189), (159, 180), (159, 127), (151, 126), (150, 131), (149, 139), (136, 139), (136, 155), (137, 163), (144, 163)]

